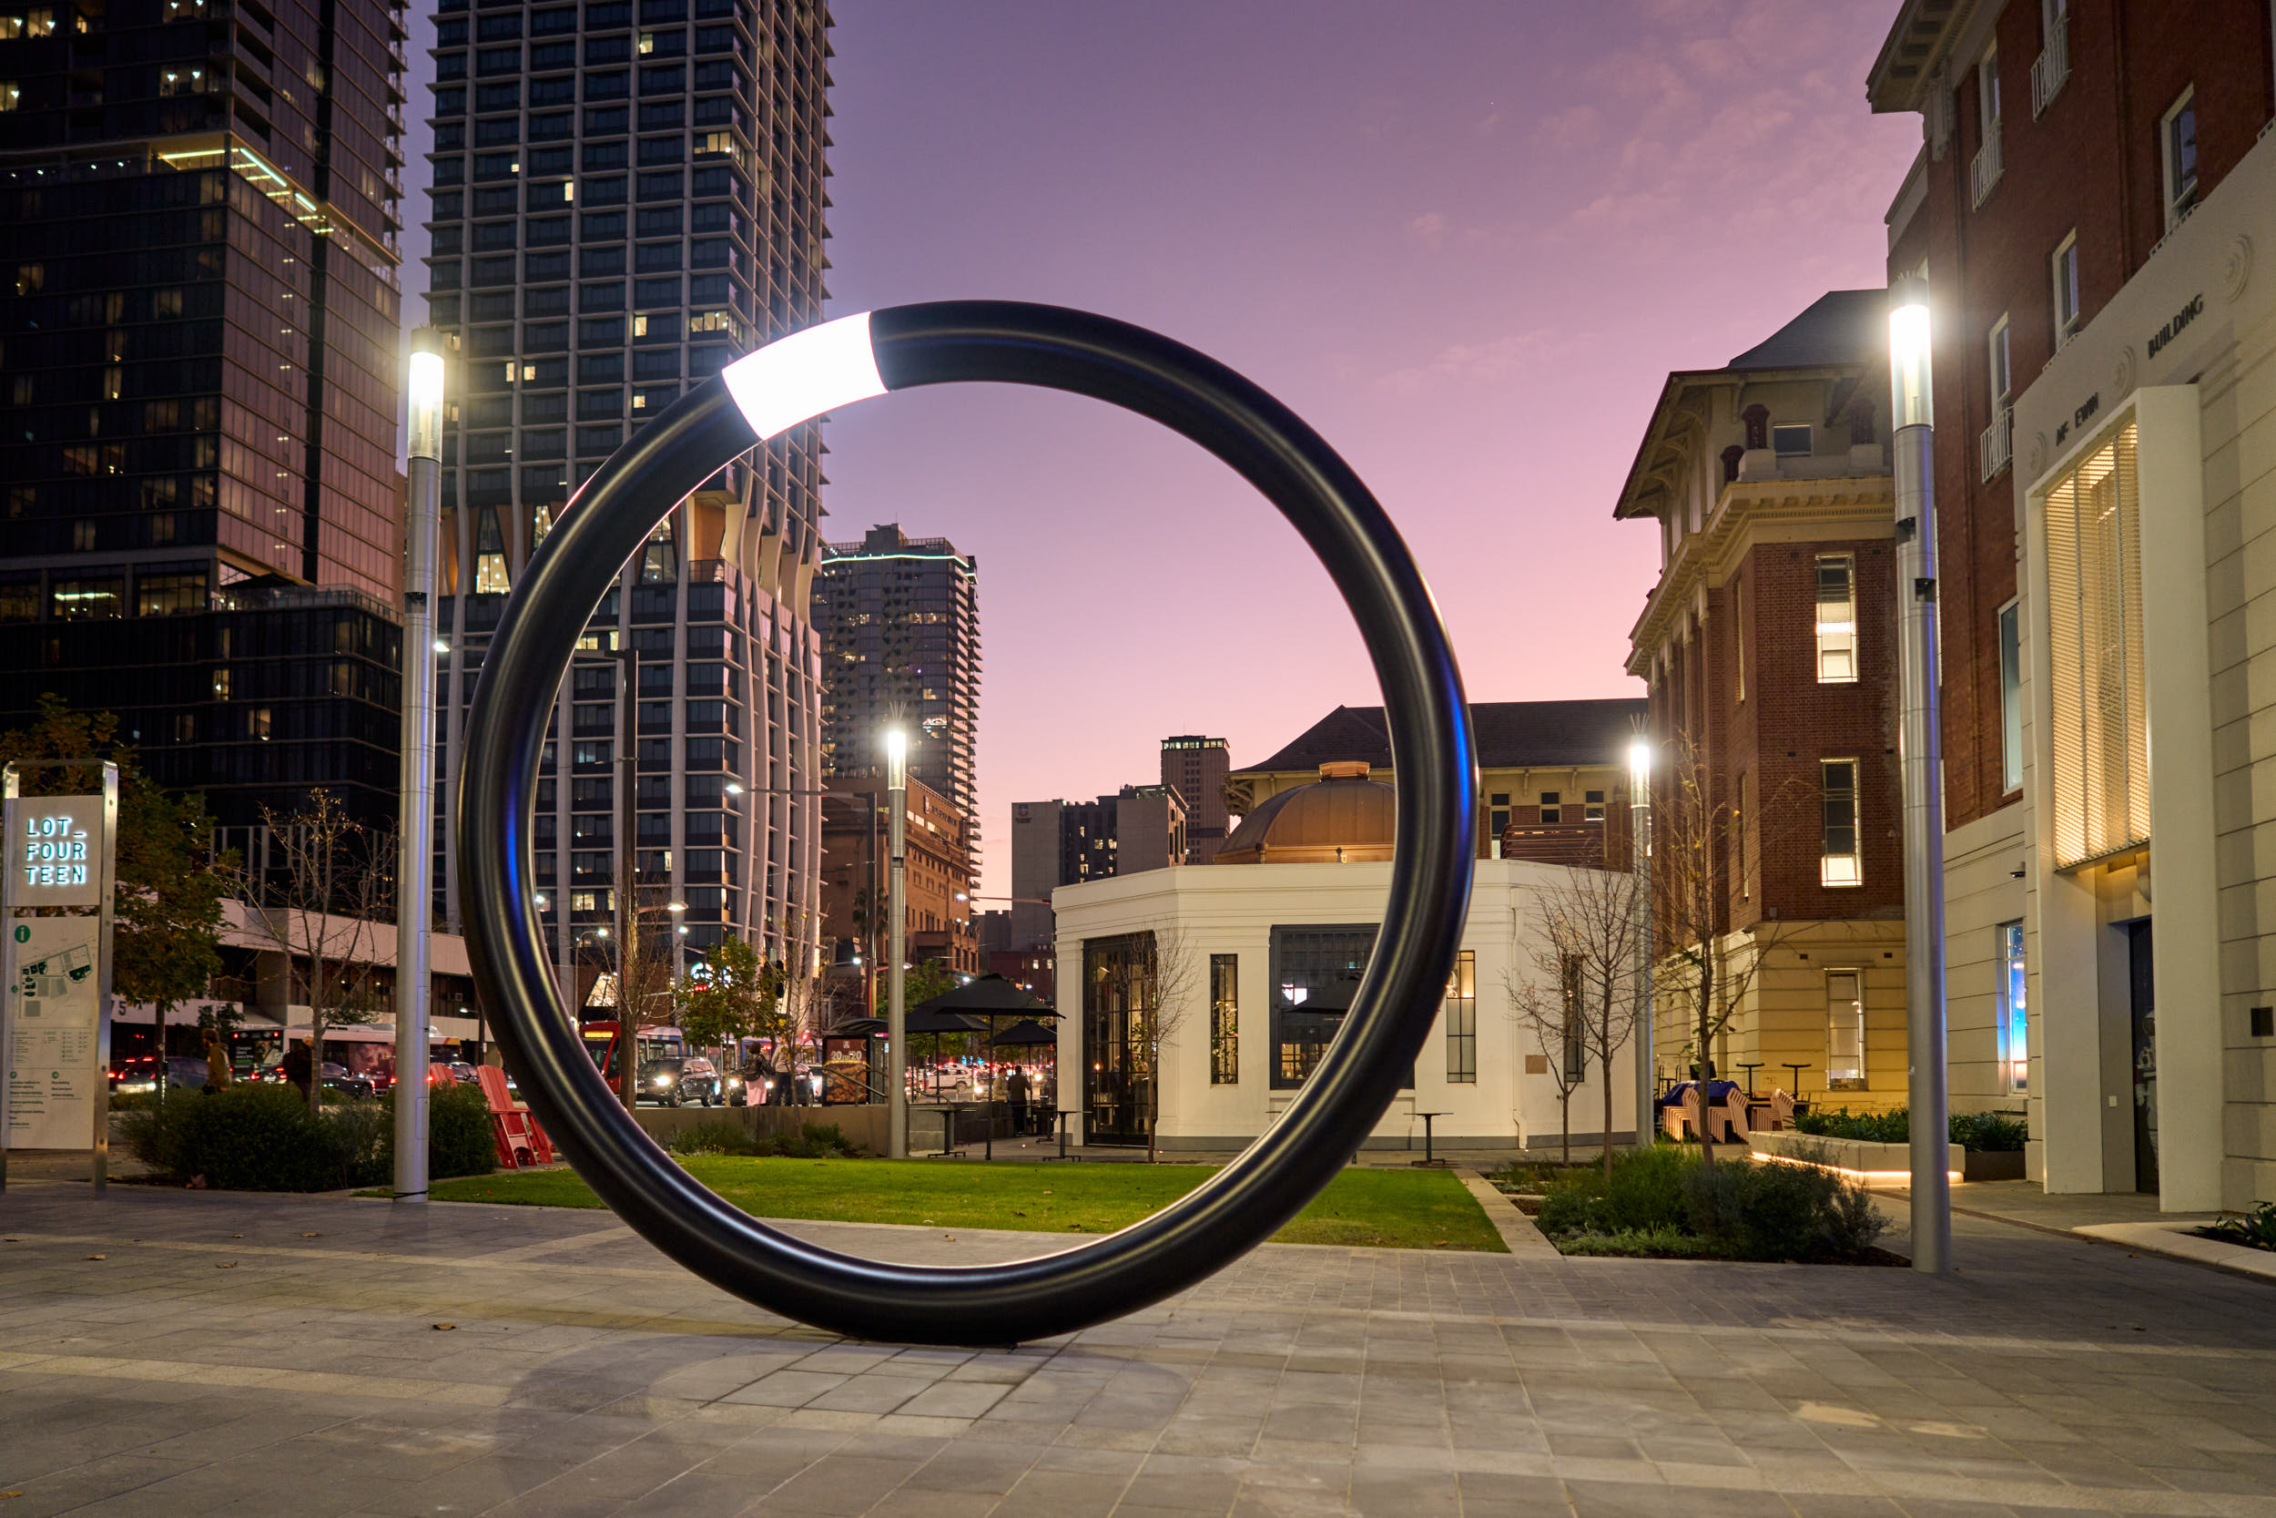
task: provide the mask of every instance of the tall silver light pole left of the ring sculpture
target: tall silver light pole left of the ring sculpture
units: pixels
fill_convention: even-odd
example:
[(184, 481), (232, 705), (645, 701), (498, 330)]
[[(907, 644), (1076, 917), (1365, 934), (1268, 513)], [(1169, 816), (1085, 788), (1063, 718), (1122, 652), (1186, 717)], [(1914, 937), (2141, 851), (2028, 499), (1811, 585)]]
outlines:
[(428, 1199), (428, 997), (435, 976), (435, 539), (442, 530), (444, 360), (412, 335), (410, 510), (403, 521), (403, 778), (396, 826), (396, 1202)]

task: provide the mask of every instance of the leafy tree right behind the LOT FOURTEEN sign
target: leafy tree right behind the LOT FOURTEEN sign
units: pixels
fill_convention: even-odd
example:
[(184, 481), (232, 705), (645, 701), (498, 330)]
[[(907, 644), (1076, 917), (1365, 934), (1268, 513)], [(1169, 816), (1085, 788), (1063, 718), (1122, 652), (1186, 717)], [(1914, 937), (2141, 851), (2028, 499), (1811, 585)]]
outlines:
[[(234, 892), (234, 865), (214, 853), (214, 819), (196, 794), (171, 797), (118, 742), (112, 712), (73, 712), (43, 694), (32, 726), (0, 737), (23, 794), (84, 794), (98, 785), (84, 769), (39, 767), (39, 760), (107, 758), (118, 765), (118, 890), (112, 931), (112, 990), (123, 1001), (166, 1013), (205, 997), (221, 974), (221, 901)], [(164, 1033), (159, 1036), (164, 1045)]]

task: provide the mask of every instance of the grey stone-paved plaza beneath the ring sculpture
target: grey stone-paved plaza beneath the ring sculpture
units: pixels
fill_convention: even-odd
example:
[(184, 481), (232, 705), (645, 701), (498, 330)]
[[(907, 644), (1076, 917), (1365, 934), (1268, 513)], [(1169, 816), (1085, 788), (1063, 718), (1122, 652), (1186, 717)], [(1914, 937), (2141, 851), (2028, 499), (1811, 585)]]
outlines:
[(1944, 1281), (1272, 1245), (954, 1352), (783, 1322), (605, 1213), (20, 1183), (0, 1518), (2276, 1516), (2276, 1286), (1955, 1234)]

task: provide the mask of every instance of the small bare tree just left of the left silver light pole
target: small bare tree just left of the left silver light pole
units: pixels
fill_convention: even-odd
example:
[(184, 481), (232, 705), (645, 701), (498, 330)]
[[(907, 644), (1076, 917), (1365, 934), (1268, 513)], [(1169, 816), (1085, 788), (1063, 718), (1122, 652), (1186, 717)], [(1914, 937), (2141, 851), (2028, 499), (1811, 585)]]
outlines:
[(269, 881), (248, 894), (280, 906), (269, 919), (287, 958), (307, 960), (310, 1108), (323, 1106), (323, 1033), (378, 1020), (373, 935), (394, 919), (394, 828), (366, 828), (316, 787), (289, 817), (262, 808), (271, 833)]

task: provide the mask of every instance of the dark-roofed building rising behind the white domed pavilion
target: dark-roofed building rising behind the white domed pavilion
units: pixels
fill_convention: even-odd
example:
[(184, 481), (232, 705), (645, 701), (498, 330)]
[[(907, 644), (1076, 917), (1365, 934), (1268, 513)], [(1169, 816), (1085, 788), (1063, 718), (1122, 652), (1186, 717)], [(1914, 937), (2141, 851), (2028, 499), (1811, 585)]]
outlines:
[[(1477, 742), (1477, 858), (1627, 867), (1627, 744), (1641, 699), (1473, 701)], [(1363, 762), (1397, 783), (1379, 706), (1338, 706), (1272, 758), (1224, 778), (1234, 815), (1311, 785), (1320, 765)]]

